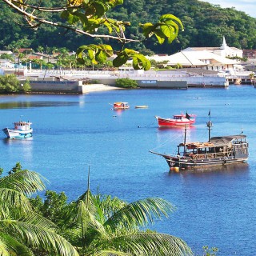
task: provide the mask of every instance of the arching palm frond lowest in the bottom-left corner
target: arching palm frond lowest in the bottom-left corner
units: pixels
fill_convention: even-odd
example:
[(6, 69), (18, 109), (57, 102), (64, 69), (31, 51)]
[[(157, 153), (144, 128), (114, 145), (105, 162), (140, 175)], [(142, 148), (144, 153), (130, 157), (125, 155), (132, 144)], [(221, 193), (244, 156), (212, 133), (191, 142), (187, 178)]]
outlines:
[[(3, 220), (1, 221), (3, 224)], [(17, 234), (18, 238), (24, 240), (28, 246), (43, 248), (48, 252), (55, 251), (56, 254), (63, 256), (78, 256), (74, 246), (66, 239), (55, 233), (51, 229), (37, 226), (27, 222), (6, 220), (12, 234)]]

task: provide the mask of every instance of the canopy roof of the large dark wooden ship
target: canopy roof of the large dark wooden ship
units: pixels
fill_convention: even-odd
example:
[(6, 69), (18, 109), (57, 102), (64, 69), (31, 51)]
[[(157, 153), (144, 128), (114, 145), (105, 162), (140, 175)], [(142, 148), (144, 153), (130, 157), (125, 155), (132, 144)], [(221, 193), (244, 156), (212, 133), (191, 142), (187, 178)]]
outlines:
[(187, 146), (188, 149), (199, 149), (206, 147), (214, 147), (214, 146), (228, 146), (230, 142), (238, 139), (244, 139), (246, 135), (230, 135), (230, 136), (222, 136), (222, 137), (212, 137), (210, 138), (210, 142), (188, 142), (186, 144), (180, 143), (179, 146)]

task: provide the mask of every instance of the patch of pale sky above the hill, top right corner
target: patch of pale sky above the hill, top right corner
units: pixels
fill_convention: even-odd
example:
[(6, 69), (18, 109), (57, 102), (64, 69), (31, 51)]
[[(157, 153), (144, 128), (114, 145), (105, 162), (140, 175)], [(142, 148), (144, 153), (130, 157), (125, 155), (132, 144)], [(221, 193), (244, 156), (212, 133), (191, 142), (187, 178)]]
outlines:
[(253, 18), (256, 18), (256, 0), (204, 0), (222, 8), (235, 7), (235, 10), (242, 10)]

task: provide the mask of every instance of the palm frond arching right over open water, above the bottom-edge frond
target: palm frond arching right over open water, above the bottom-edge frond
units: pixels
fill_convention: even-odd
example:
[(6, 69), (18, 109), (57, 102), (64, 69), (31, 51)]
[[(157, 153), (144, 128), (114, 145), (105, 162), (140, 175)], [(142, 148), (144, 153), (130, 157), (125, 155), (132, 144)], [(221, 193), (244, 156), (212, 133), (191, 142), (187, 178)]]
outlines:
[(154, 218), (162, 219), (162, 215), (166, 218), (168, 213), (173, 212), (175, 206), (162, 198), (146, 198), (138, 200), (124, 206), (111, 216), (104, 224), (115, 230), (122, 225), (126, 228), (130, 226), (146, 226), (154, 223)]

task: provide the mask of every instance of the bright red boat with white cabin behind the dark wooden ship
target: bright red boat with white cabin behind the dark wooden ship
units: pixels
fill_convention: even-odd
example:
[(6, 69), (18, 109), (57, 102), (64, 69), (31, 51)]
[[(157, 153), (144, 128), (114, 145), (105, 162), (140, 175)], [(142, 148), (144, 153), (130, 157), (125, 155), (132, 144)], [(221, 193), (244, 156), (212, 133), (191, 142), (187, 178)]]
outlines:
[(160, 118), (156, 116), (159, 127), (190, 126), (195, 122), (195, 114), (175, 114), (174, 118)]

